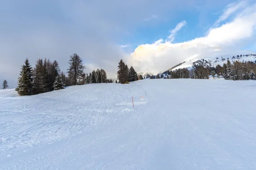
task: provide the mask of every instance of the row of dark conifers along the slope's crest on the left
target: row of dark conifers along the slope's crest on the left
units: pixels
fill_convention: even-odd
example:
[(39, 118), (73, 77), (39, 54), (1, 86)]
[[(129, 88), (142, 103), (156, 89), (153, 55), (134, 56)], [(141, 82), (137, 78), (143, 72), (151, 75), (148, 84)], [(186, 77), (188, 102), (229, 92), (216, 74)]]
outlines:
[(24, 96), (59, 90), (71, 85), (113, 82), (112, 79), (107, 79), (103, 69), (93, 70), (89, 75), (85, 74), (83, 61), (76, 53), (70, 56), (68, 63), (66, 76), (63, 71), (60, 71), (56, 60), (51, 62), (49, 59), (38, 59), (35, 67), (32, 68), (29, 59), (26, 59), (21, 67), (15, 90), (20, 96)]

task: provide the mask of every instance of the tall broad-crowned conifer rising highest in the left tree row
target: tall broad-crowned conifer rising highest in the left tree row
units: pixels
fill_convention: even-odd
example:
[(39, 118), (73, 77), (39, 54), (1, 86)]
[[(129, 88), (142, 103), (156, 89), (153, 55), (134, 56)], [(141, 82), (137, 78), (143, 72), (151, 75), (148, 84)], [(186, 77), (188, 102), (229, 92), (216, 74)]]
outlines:
[(70, 56), (70, 67), (68, 69), (71, 85), (76, 85), (78, 79), (81, 78), (84, 72), (83, 60), (76, 53)]

